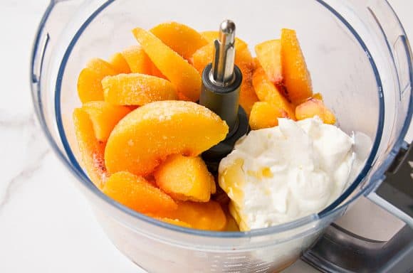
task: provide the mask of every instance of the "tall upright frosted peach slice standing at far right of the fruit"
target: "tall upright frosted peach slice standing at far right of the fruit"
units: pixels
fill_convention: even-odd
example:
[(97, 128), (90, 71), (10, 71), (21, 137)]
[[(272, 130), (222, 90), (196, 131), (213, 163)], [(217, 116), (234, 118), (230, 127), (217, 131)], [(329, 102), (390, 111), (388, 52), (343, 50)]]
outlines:
[(281, 62), (283, 80), (288, 90), (288, 97), (293, 104), (313, 95), (310, 73), (303, 52), (298, 43), (296, 31), (283, 28), (281, 30)]

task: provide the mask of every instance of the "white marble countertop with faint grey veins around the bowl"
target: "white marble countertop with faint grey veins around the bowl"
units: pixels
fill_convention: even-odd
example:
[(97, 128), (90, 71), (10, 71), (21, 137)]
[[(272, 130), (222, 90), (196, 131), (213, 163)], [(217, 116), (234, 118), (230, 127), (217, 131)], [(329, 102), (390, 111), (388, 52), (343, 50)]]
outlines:
[[(413, 2), (389, 1), (412, 38)], [(47, 3), (0, 1), (0, 272), (142, 272), (105, 237), (35, 121), (28, 67)]]

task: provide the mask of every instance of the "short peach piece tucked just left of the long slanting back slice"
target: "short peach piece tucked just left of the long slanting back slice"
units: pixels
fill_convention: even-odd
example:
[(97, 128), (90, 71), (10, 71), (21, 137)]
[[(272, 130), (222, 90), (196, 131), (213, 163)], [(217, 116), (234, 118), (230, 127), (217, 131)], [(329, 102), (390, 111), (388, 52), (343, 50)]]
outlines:
[(152, 61), (140, 45), (133, 45), (122, 51), (132, 73), (141, 73), (151, 75)]

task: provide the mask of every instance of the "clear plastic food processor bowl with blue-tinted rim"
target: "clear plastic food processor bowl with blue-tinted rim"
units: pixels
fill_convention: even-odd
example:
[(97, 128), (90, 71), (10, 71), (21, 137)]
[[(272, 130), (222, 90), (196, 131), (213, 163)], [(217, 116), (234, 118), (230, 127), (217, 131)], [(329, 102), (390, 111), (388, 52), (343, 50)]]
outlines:
[[(135, 45), (130, 30), (179, 21), (199, 31), (231, 18), (254, 45), (298, 32), (315, 92), (348, 134), (372, 139), (360, 174), (318, 214), (251, 232), (206, 232), (161, 223), (98, 191), (78, 164), (72, 112), (88, 59)], [(251, 48), (252, 50), (253, 48)], [(412, 117), (412, 55), (385, 0), (51, 1), (33, 48), (33, 103), (53, 150), (73, 174), (116, 247), (148, 272), (274, 272), (293, 263), (360, 196), (380, 185)]]

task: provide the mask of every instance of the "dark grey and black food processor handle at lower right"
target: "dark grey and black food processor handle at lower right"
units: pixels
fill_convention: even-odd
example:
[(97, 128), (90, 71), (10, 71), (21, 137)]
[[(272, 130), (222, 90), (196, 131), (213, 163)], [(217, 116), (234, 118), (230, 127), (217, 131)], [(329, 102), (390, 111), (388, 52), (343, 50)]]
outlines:
[(302, 259), (321, 272), (412, 272), (413, 270), (413, 145), (404, 143), (369, 198), (403, 220), (404, 227), (387, 242), (355, 235), (333, 224)]

